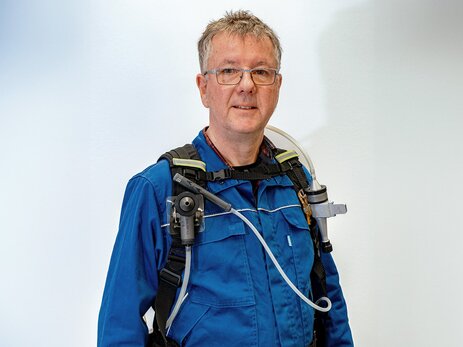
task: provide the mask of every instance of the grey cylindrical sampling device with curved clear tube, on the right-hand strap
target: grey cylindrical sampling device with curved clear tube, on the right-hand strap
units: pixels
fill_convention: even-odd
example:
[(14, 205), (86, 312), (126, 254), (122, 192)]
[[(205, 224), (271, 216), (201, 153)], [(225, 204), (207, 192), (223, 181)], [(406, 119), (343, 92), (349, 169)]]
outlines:
[[(290, 145), (294, 150), (299, 154), (299, 159), (306, 164), (307, 168), (312, 175), (312, 184), (308, 189), (305, 189), (305, 194), (307, 195), (308, 203), (312, 210), (312, 217), (315, 218), (320, 230), (321, 236), (321, 249), (325, 253), (329, 253), (333, 250), (330, 239), (328, 238), (328, 226), (327, 218), (334, 217), (337, 214), (344, 214), (347, 212), (347, 206), (345, 204), (334, 204), (328, 200), (328, 193), (326, 186), (320, 185), (317, 181), (317, 176), (315, 175), (315, 168), (313, 166), (312, 160), (310, 160), (309, 155), (306, 151), (299, 145), (299, 143), (289, 134), (284, 132), (281, 129), (278, 129), (274, 126), (267, 125), (266, 135), (274, 142), (277, 142), (278, 138), (273, 136), (277, 134), (282, 136), (286, 141), (289, 141)], [(282, 146), (283, 148), (287, 146)], [(289, 148), (287, 148), (289, 149)]]

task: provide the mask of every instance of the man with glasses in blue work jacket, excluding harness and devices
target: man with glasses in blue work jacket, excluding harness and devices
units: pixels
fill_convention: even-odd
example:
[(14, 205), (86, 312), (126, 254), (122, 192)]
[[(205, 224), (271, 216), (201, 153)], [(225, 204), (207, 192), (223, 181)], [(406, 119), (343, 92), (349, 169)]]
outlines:
[[(239, 172), (275, 162), (264, 128), (278, 102), (281, 48), (275, 33), (246, 11), (211, 22), (199, 43), (196, 76), (209, 126), (193, 141), (207, 171)], [(307, 174), (308, 175), (308, 174)], [(309, 180), (310, 177), (307, 177)], [(256, 226), (288, 277), (306, 295), (314, 247), (291, 180), (227, 179), (207, 189)], [(145, 346), (143, 315), (159, 289), (171, 247), (166, 200), (169, 163), (159, 161), (133, 177), (122, 206), (98, 325), (98, 345)], [(188, 295), (166, 331), (181, 346), (309, 346), (314, 310), (283, 281), (250, 229), (235, 215), (206, 202), (205, 227), (192, 247)], [(329, 254), (322, 254), (327, 296), (327, 346), (352, 346), (347, 309)], [(314, 297), (314, 300), (318, 297)]]

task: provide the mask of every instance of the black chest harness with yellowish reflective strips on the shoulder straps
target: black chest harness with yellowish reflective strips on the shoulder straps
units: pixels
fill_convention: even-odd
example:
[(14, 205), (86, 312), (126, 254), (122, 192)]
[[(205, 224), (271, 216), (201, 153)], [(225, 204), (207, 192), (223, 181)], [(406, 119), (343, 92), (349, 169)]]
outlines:
[[(179, 173), (189, 180), (206, 188), (207, 182), (226, 179), (260, 181), (276, 176), (287, 175), (293, 183), (293, 188), (299, 198), (301, 208), (307, 218), (310, 235), (314, 247), (314, 262), (310, 274), (312, 292), (315, 296), (326, 296), (326, 274), (320, 259), (320, 242), (316, 221), (312, 218), (310, 205), (305, 192), (309, 192), (306, 175), (295, 151), (282, 149), (273, 150), (276, 164), (261, 162), (244, 171), (230, 168), (219, 171), (206, 171), (206, 164), (192, 144), (173, 149), (164, 153), (159, 160), (167, 160), (170, 165), (172, 177)], [(172, 195), (178, 196), (185, 191), (181, 185), (173, 182)], [(310, 193), (310, 192), (309, 192)], [(149, 347), (174, 347), (178, 344), (166, 337), (166, 322), (174, 305), (177, 290), (182, 284), (182, 274), (185, 269), (185, 247), (182, 245), (180, 235), (172, 231), (172, 246), (167, 257), (165, 267), (159, 272), (158, 292), (154, 302), (155, 320), (153, 333), (148, 337)], [(324, 346), (324, 321), (328, 319), (326, 313), (315, 311), (314, 338), (310, 346)]]

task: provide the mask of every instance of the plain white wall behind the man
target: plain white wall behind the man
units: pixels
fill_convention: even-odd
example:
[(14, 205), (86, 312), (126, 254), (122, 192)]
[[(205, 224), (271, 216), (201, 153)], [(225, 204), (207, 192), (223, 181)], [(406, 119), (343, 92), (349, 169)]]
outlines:
[(196, 40), (275, 28), (357, 346), (461, 346), (461, 1), (0, 2), (0, 345), (94, 346), (127, 180), (207, 122)]

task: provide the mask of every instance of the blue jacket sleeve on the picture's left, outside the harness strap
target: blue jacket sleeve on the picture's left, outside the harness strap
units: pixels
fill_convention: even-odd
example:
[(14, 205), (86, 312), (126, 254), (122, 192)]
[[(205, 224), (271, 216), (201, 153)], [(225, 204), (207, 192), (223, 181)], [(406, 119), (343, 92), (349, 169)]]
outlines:
[(98, 347), (145, 346), (143, 315), (157, 291), (157, 270), (168, 249), (153, 184), (143, 176), (126, 188), (119, 231), (98, 317)]

